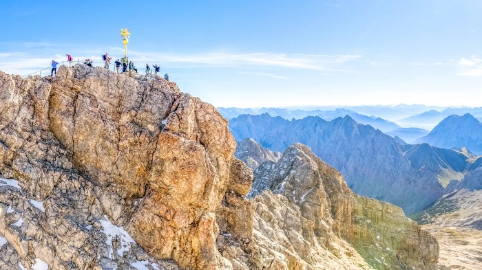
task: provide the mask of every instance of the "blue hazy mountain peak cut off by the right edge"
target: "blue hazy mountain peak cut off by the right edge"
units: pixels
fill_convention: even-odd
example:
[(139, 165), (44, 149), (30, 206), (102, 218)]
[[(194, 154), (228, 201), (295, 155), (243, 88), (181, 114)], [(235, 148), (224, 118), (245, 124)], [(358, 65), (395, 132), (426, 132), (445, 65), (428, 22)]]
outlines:
[(482, 155), (482, 123), (470, 113), (450, 115), (417, 142), (442, 148), (466, 147), (476, 155)]

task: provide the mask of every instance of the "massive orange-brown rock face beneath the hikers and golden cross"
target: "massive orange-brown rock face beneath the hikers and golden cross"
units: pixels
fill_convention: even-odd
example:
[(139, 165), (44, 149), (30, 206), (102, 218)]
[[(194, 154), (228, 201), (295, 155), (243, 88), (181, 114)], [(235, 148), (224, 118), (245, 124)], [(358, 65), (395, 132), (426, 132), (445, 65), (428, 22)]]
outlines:
[(251, 237), (233, 218), (252, 223), (242, 212), (252, 172), (210, 104), (157, 76), (85, 65), (55, 78), (0, 71), (0, 86), (2, 269), (36, 258), (54, 269), (219, 269), (216, 211), (231, 196), (244, 208), (218, 211), (222, 229)]

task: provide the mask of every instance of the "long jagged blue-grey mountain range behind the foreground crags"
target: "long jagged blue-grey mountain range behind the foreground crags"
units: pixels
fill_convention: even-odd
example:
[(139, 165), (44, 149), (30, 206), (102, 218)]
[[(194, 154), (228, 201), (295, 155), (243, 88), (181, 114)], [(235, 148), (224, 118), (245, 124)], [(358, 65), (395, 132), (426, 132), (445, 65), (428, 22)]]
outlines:
[(407, 213), (419, 212), (439, 199), (450, 181), (460, 181), (480, 163), (468, 152), (428, 144), (401, 145), (372, 126), (351, 117), (326, 121), (320, 117), (240, 115), (229, 127), (237, 141), (251, 137), (271, 150), (296, 142), (342, 172), (358, 194), (388, 201)]

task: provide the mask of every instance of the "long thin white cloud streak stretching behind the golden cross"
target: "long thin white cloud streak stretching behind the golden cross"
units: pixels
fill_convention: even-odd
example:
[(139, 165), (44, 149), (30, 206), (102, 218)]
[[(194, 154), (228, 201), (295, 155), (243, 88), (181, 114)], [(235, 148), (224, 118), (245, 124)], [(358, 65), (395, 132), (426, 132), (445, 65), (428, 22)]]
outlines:
[[(62, 52), (62, 53), (59, 53)], [(12, 74), (30, 74), (50, 65), (52, 59), (65, 60), (65, 53), (72, 54), (74, 58), (83, 60), (92, 58), (101, 60), (104, 53), (95, 48), (79, 47), (72, 44), (50, 43), (0, 43), (0, 69)], [(111, 47), (108, 49), (112, 56), (123, 55), (123, 48)], [(271, 52), (252, 53), (158, 53), (140, 52), (129, 50), (129, 59), (138, 63), (158, 63), (171, 68), (277, 68), (277, 69), (306, 69), (312, 71), (327, 72), (351, 72), (350, 63), (362, 58), (361, 55), (341, 54), (276, 54)], [(270, 71), (261, 71), (258, 76), (280, 78)]]

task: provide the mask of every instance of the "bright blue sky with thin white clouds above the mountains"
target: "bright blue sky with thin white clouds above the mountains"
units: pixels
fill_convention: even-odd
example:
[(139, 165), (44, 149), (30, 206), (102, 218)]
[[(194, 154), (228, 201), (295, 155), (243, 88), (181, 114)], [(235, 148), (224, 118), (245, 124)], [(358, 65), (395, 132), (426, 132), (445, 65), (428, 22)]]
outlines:
[(0, 69), (122, 56), (215, 106), (482, 106), (482, 1), (9, 1)]

